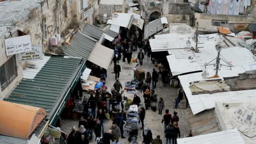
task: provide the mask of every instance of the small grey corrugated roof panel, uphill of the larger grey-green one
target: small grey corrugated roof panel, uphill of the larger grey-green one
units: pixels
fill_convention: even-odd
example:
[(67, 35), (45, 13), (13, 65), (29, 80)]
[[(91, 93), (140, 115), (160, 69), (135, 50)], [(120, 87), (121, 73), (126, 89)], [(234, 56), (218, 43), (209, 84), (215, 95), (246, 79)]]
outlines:
[(101, 38), (103, 31), (98, 27), (93, 26), (92, 24), (85, 24), (82, 33), (96, 40), (99, 40)]

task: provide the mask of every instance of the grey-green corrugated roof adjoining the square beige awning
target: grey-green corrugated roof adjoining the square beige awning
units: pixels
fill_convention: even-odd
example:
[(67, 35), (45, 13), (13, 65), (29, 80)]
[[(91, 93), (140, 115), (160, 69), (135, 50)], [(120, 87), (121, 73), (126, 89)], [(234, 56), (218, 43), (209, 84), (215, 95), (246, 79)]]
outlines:
[(64, 53), (68, 56), (81, 57), (86, 61), (96, 42), (96, 40), (88, 35), (85, 35), (82, 32), (77, 32), (70, 41), (70, 45), (64, 47)]

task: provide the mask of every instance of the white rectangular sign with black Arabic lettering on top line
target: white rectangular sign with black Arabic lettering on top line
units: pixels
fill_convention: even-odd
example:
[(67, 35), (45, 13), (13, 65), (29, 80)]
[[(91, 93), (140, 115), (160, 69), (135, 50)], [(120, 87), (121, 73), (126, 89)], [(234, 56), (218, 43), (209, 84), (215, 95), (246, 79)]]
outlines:
[(30, 35), (5, 39), (5, 49), (7, 56), (25, 51), (31, 51)]

